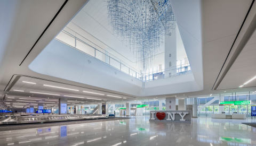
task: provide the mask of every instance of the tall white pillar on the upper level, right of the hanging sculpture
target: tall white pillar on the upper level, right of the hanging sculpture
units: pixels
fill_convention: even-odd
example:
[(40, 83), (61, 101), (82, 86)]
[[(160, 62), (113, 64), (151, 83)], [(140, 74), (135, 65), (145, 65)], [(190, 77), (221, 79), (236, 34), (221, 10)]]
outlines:
[(176, 31), (174, 30), (169, 33), (170, 33), (169, 35), (165, 35), (165, 39), (164, 39), (165, 41), (164, 43), (165, 44), (164, 45), (165, 76), (172, 76), (176, 74), (176, 67), (175, 67), (177, 63)]

